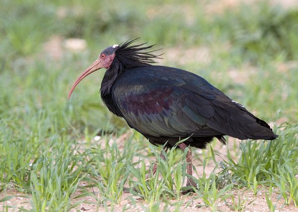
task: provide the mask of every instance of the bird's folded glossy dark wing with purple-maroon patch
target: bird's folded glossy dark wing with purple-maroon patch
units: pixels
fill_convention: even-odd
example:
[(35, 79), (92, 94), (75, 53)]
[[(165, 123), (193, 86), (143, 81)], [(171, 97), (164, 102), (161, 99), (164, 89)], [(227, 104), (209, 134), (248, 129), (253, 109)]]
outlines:
[(161, 66), (130, 69), (119, 76), (112, 93), (122, 117), (143, 135), (224, 134), (247, 139), (252, 131), (265, 132), (242, 105), (188, 71)]

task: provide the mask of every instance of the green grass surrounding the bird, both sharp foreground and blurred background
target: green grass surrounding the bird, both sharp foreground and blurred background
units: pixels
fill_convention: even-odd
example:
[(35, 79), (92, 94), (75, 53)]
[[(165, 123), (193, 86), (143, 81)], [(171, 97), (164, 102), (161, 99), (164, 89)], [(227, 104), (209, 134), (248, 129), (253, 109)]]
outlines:
[[(197, 209), (216, 211), (224, 202), (231, 210), (245, 211), (253, 202), (242, 198), (243, 189), (257, 198), (260, 188), (266, 190), (269, 211), (280, 210), (273, 194), (284, 207), (298, 207), (297, 8), (259, 2), (211, 14), (197, 1), (153, 0), (137, 6), (132, 0), (1, 0), (1, 5), (2, 211), (26, 211), (21, 204), (7, 203), (15, 197), (10, 191), (24, 197), (32, 212), (67, 212), (83, 201), (113, 211), (126, 190), (130, 205), (123, 205), (123, 211), (137, 206), (143, 211), (187, 210), (192, 201), (200, 202)], [(61, 58), (53, 59), (44, 48), (53, 36), (84, 39), (87, 49), (74, 53), (62, 47)], [(241, 141), (226, 150), (222, 161), (215, 159), (223, 156), (215, 150), (218, 141), (193, 153), (204, 168), (211, 163), (215, 168), (211, 174), (198, 173), (194, 181), (199, 188), (187, 199), (189, 194), (181, 194), (185, 153), (150, 145), (108, 112), (98, 95), (104, 71), (84, 79), (67, 100), (74, 79), (101, 50), (135, 37), (156, 43), (165, 55), (174, 49), (207, 48), (209, 62), (182, 52), (181, 58), (161, 63), (202, 75), (268, 121), (279, 138)], [(235, 81), (231, 70), (243, 80)], [(100, 141), (93, 140), (97, 135)], [(146, 180), (155, 157), (157, 174)]]

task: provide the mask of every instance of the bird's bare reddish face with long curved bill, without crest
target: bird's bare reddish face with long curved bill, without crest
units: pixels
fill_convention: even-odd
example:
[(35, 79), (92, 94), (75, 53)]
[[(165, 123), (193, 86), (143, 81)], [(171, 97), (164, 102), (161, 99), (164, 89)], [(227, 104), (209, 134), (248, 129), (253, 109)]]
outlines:
[(68, 95), (68, 99), (71, 97), (73, 90), (75, 88), (75, 86), (83, 79), (85, 78), (87, 75), (89, 75), (90, 73), (97, 71), (99, 69), (109, 69), (111, 67), (111, 64), (115, 58), (115, 51), (117, 49), (119, 45), (115, 44), (113, 46), (110, 46), (108, 48), (106, 48), (105, 50), (103, 50), (96, 61), (94, 61), (84, 72), (82, 72), (75, 80), (69, 95)]

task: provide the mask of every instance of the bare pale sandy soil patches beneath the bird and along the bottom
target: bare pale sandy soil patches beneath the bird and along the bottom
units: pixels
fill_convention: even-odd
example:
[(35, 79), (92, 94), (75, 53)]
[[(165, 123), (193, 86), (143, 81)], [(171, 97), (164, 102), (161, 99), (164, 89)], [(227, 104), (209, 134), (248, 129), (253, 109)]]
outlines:
[[(121, 137), (118, 138), (118, 140), (123, 140), (126, 139), (132, 131), (129, 131), (128, 134), (125, 134)], [(226, 159), (226, 148), (232, 149), (234, 145), (238, 145), (239, 140), (237, 139), (229, 139), (228, 145), (224, 146), (218, 141), (216, 142), (216, 145), (214, 146), (216, 154), (216, 159), (217, 161), (221, 161), (223, 159)], [(122, 141), (119, 141), (119, 144), (123, 143)], [(200, 149), (193, 149), (193, 156), (194, 155), (200, 155)], [(233, 155), (232, 155), (233, 156)], [(237, 157), (237, 152), (234, 151), (234, 157)], [(203, 158), (202, 158), (203, 159)], [(136, 159), (137, 161), (138, 159)], [(193, 164), (195, 165), (198, 173), (203, 172), (203, 166), (202, 162), (199, 161), (195, 156), (193, 157)], [(150, 163), (148, 163), (148, 168), (150, 167)], [(205, 167), (205, 172), (206, 175), (210, 175), (210, 173), (213, 171), (215, 167), (215, 164), (212, 160), (209, 161), (208, 165)], [(196, 176), (195, 177), (200, 177)], [(80, 186), (84, 186), (84, 183), (81, 182)], [(127, 186), (125, 186), (127, 187)], [(92, 192), (95, 197), (99, 196), (99, 191), (96, 187), (94, 188), (89, 188), (89, 192)], [(258, 188), (258, 193), (256, 196), (254, 196), (253, 192), (250, 190), (246, 190), (245, 188), (238, 190), (238, 189), (233, 189), (231, 191), (234, 201), (236, 202), (235, 205), (238, 204), (238, 199), (240, 198), (241, 204), (243, 204), (245, 207), (241, 208), (239, 207), (238, 210), (241, 211), (243, 210), (244, 212), (267, 212), (269, 211), (268, 205), (266, 202), (266, 196), (265, 194), (268, 193), (268, 188), (267, 187), (259, 187)], [(79, 195), (80, 192), (79, 190), (73, 195), (73, 197)], [(26, 209), (26, 210), (31, 210), (31, 203), (30, 203), (30, 195), (20, 193), (14, 189), (8, 189), (5, 192), (0, 193), (0, 200), (4, 197), (9, 197), (13, 196), (11, 199), (0, 203), (0, 209), (5, 206), (11, 207), (8, 209), (8, 212), (13, 212), (13, 211), (18, 211), (16, 209)], [(272, 202), (273, 205), (276, 205), (276, 212), (297, 212), (298, 208), (295, 208), (295, 205), (293, 201), (291, 202), (290, 205), (285, 205), (285, 201), (283, 198), (278, 198), (279, 192), (278, 189), (273, 189), (273, 194), (272, 194)], [(245, 200), (246, 199), (246, 200)], [(132, 200), (135, 203), (132, 203)], [(180, 206), (179, 211), (187, 211), (187, 212), (210, 212), (212, 211), (211, 208), (206, 207), (204, 204), (204, 201), (200, 198), (198, 198), (197, 194), (188, 194), (182, 196), (181, 200), (183, 201), (183, 204)], [(96, 199), (93, 196), (87, 196), (83, 198), (78, 198), (72, 200), (72, 204), (76, 204), (80, 201), (83, 201), (83, 203), (79, 204), (77, 207), (71, 210), (71, 212), (101, 212), (105, 211), (105, 207), (103, 207), (101, 204), (97, 203)], [(169, 200), (170, 204), (174, 204), (177, 202), (176, 200)], [(235, 208), (233, 207), (234, 204), (232, 203), (232, 198), (229, 197), (225, 199), (224, 201), (219, 199), (216, 201), (215, 207), (217, 211), (221, 212), (230, 212), (230, 211), (235, 211)], [(144, 207), (147, 208), (149, 205), (143, 201), (141, 198), (133, 196), (130, 193), (123, 193), (122, 200), (119, 205), (108, 205), (108, 210), (110, 211), (115, 211), (115, 212), (122, 212), (124, 207), (126, 208), (126, 211), (128, 212), (142, 212), (144, 211)], [(165, 203), (161, 203), (160, 211), (165, 210), (167, 208), (169, 211), (174, 211), (176, 208), (175, 206), (165, 206)], [(16, 209), (14, 209), (16, 208)], [(4, 209), (2, 209), (4, 211)]]

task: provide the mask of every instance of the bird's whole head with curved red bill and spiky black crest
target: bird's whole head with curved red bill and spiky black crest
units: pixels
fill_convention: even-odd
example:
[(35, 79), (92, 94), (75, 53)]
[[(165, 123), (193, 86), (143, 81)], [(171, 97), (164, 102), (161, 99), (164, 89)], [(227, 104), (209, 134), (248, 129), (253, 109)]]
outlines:
[[(140, 66), (149, 66), (154, 63), (153, 59), (160, 55), (153, 55), (156, 50), (149, 50), (154, 45), (143, 46), (146, 43), (131, 45), (139, 38), (128, 40), (120, 45), (113, 45), (103, 50), (96, 61), (94, 61), (81, 75), (75, 80), (68, 99), (71, 97), (75, 86), (90, 73), (99, 70), (107, 69), (108, 71), (121, 73), (127, 69)], [(149, 51), (148, 51), (149, 50)]]

